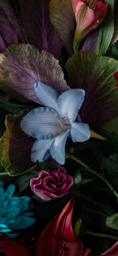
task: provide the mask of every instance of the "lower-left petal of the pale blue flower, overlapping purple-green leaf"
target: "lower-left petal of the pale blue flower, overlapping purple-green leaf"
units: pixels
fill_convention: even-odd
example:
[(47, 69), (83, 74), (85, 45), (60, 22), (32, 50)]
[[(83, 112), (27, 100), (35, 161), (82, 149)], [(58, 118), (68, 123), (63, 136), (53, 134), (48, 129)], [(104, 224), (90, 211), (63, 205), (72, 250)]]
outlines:
[(54, 138), (48, 140), (36, 140), (31, 148), (31, 161), (35, 163), (36, 160), (43, 162), (48, 159), (50, 155), (49, 149), (53, 140)]

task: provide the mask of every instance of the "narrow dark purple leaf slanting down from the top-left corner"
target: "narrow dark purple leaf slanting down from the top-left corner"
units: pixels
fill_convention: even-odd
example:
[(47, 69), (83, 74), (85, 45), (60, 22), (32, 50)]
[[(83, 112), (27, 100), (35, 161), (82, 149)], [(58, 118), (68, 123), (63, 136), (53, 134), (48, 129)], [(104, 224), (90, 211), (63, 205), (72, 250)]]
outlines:
[[(9, 26), (13, 26), (16, 30), (16, 34), (18, 35), (19, 39), (22, 43), (25, 42), (24, 35), (22, 32), (22, 29), (19, 25), (19, 22), (15, 16), (15, 13), (13, 11), (13, 8), (10, 4), (9, 0), (0, 0), (0, 9), (4, 12), (4, 15), (6, 16)], [(1, 24), (0, 24), (1, 26)]]

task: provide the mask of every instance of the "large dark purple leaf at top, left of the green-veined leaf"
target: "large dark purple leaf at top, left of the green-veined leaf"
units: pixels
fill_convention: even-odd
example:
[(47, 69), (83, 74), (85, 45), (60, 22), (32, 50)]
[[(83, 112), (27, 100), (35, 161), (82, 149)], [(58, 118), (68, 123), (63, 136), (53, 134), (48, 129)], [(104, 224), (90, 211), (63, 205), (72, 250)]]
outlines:
[(49, 21), (49, 0), (19, 0), (19, 4), (28, 43), (60, 59), (62, 43)]

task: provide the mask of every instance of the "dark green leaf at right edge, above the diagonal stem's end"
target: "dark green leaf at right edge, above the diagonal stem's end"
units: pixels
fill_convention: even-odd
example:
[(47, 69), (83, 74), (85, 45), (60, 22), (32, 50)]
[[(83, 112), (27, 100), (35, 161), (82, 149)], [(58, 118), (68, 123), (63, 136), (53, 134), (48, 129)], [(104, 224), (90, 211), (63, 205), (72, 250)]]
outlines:
[(118, 163), (108, 157), (103, 157), (103, 162), (105, 168), (110, 174), (118, 176)]

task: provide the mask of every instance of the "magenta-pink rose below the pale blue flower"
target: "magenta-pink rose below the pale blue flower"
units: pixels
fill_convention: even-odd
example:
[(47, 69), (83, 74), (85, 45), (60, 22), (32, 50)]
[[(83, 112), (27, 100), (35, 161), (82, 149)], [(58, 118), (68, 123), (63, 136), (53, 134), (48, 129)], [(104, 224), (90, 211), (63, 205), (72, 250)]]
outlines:
[(51, 172), (40, 171), (37, 178), (30, 179), (31, 190), (44, 201), (68, 194), (73, 183), (73, 177), (68, 175), (63, 167)]

